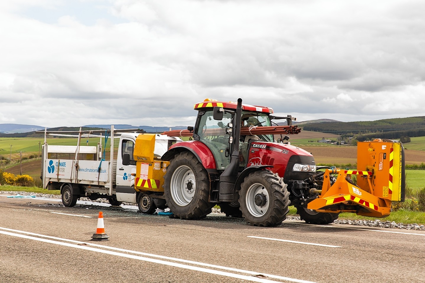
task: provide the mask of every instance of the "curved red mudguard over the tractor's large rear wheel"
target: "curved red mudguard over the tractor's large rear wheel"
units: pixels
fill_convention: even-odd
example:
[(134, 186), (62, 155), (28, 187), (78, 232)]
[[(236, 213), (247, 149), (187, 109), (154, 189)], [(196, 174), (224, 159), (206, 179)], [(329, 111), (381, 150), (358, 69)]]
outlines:
[(216, 169), (214, 155), (211, 150), (200, 141), (190, 140), (180, 143), (175, 143), (170, 146), (170, 149), (161, 157), (162, 160), (170, 161), (173, 157), (183, 151), (190, 151), (205, 169)]

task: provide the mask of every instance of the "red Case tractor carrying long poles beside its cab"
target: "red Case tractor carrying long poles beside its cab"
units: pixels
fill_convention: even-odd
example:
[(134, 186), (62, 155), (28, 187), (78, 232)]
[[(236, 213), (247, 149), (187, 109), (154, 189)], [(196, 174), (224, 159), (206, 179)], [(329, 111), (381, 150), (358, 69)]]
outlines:
[[(168, 207), (180, 219), (201, 219), (219, 205), (227, 216), (243, 217), (255, 226), (277, 226), (286, 219), (289, 205), (301, 219), (331, 223), (338, 213), (316, 212), (307, 203), (317, 198), (323, 173), (316, 172), (312, 154), (291, 146), (298, 133), (291, 116), (273, 116), (273, 109), (206, 100), (195, 104), (195, 127), (168, 135), (190, 135), (162, 156), (170, 161), (164, 176)], [(288, 126), (272, 126), (272, 119), (287, 119)], [(277, 125), (277, 124), (276, 124)]]

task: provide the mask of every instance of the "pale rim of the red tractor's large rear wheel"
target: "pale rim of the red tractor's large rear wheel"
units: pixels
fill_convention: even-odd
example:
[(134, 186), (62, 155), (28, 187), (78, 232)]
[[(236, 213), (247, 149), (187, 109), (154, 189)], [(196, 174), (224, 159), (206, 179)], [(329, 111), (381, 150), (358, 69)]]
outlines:
[(179, 166), (171, 176), (171, 197), (178, 206), (188, 205), (195, 195), (196, 181), (192, 169), (186, 165)]

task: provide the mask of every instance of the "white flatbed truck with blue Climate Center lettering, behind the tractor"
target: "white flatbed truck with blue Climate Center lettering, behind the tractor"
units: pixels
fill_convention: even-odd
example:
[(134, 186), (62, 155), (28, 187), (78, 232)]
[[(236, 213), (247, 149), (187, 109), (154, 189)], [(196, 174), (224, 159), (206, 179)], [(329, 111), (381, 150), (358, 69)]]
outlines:
[[(72, 207), (80, 197), (91, 200), (108, 199), (111, 205), (121, 205), (122, 202), (137, 204), (140, 201), (139, 192), (134, 190), (136, 160), (133, 160), (136, 138), (143, 134), (139, 129), (114, 129), (111, 126), (110, 130), (82, 131), (80, 128), (79, 131), (45, 129), (38, 132), (44, 133), (41, 176), (43, 188), (60, 190), (63, 205)], [(49, 145), (48, 135), (78, 137), (77, 145)], [(81, 145), (81, 140), (85, 137), (100, 137), (100, 141), (97, 146)], [(108, 139), (109, 152), (105, 149), (102, 151), (102, 147), (106, 148)], [(102, 140), (105, 146), (102, 146)], [(154, 155), (161, 157), (178, 141), (181, 141), (178, 137), (157, 134)], [(128, 157), (130, 160), (127, 160)], [(157, 200), (160, 201), (161, 198), (163, 197), (159, 196)]]

